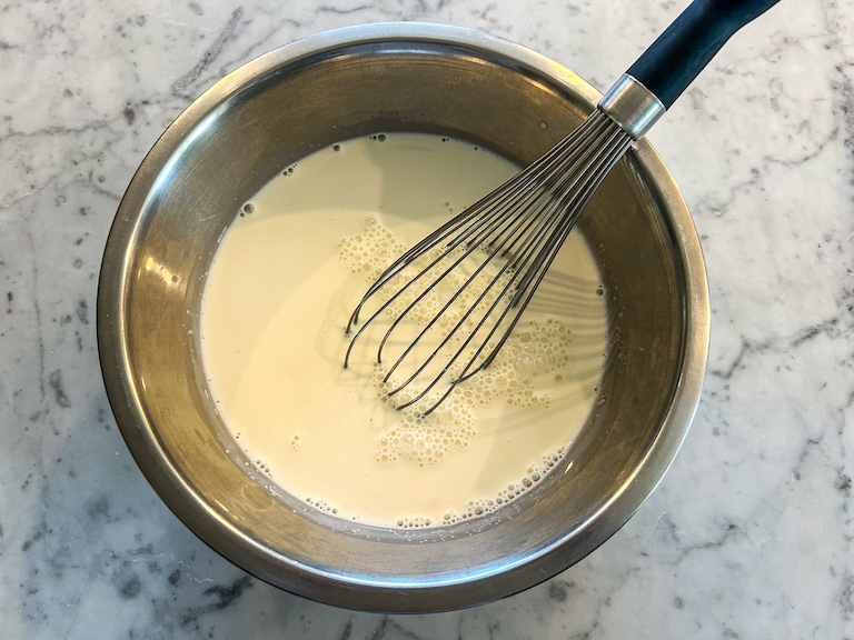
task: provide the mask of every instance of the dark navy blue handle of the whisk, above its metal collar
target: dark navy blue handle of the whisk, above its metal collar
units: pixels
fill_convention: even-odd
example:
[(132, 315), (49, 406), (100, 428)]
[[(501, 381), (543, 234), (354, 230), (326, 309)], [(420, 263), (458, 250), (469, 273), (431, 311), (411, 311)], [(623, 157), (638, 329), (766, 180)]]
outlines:
[(695, 0), (627, 73), (669, 109), (733, 33), (778, 1)]

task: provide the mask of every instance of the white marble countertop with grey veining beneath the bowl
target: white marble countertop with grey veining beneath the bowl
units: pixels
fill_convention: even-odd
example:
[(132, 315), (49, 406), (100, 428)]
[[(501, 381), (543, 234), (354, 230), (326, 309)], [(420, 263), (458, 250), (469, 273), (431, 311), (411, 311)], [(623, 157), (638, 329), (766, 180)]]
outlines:
[(454, 613), (308, 602), (199, 542), (138, 471), (95, 340), (135, 168), (188, 101), (276, 46), (426, 20), (599, 88), (685, 0), (0, 3), (0, 629), (4, 638), (854, 637), (854, 6), (784, 0), (652, 134), (696, 218), (713, 309), (697, 419), (613, 539)]

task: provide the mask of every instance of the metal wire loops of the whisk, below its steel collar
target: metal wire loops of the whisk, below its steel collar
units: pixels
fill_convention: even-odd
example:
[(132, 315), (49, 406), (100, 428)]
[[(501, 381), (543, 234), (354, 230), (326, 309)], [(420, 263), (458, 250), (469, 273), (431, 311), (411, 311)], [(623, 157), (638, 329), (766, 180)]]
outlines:
[[(439, 288), (454, 283), (383, 379), (384, 383), (394, 380), (389, 398), (406, 391), (397, 409), (425, 400), (419, 409), (423, 416), (429, 414), (458, 384), (495, 360), (582, 210), (630, 144), (632, 137), (596, 110), (527, 169), (403, 253), (368, 288), (350, 316), (346, 332), (352, 337), (344, 366), (348, 367), (366, 329), (394, 310), (377, 348), (376, 361), (383, 364), (405, 320)], [(375, 298), (380, 299), (379, 307), (354, 334), (359, 314)], [(473, 300), (466, 304), (468, 298)], [(438, 343), (430, 344), (430, 353), (410, 373), (395, 380), (416, 347), (443, 320), (453, 327), (441, 330)], [(443, 380), (447, 388), (430, 394)]]

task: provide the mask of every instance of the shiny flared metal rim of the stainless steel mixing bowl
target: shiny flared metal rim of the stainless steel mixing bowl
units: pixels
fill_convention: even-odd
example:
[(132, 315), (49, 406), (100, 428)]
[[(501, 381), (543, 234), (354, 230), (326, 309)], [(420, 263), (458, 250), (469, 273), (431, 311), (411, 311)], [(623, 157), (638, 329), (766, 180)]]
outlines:
[[(167, 507), (198, 538), (219, 554), (254, 576), (286, 588), (300, 596), (327, 603), (354, 607), (352, 593), (332, 593), (328, 587), (340, 587), (340, 576), (327, 574), (315, 568), (289, 562), (257, 544), (232, 528), (214, 512), (195, 493), (171, 464), (169, 456), (153, 436), (142, 411), (140, 397), (133, 384), (127, 350), (126, 282), (129, 277), (130, 249), (133, 247), (138, 221), (146, 210), (147, 199), (158, 176), (170, 158), (192, 134), (217, 106), (241, 91), (245, 86), (287, 63), (308, 56), (322, 53), (348, 44), (370, 42), (425, 42), (457, 46), (499, 57), (530, 69), (556, 86), (572, 89), (595, 104), (602, 93), (574, 72), (522, 44), (471, 29), (426, 22), (383, 22), (358, 24), (324, 31), (302, 38), (265, 53), (229, 73), (193, 100), (155, 142), (140, 163), (119, 203), (109, 231), (98, 282), (97, 338), (101, 372), (107, 396), (119, 430), (143, 476)], [(675, 247), (681, 253), (684, 278), (686, 317), (688, 329), (684, 337), (683, 362), (669, 411), (644, 459), (623, 487), (603, 507), (592, 513), (577, 531), (577, 549), (569, 554), (565, 540), (530, 556), (520, 566), (504, 567), (500, 573), (517, 573), (508, 582), (516, 587), (505, 588), (499, 597), (510, 596), (544, 580), (579, 561), (599, 547), (640, 508), (672, 464), (691, 422), (696, 413), (703, 379), (706, 371), (709, 344), (709, 293), (705, 262), (699, 238), (688, 208), (671, 173), (646, 139), (635, 144), (635, 154), (649, 173), (658, 190), (664, 208), (672, 218)], [(282, 586), (271, 579), (267, 564), (275, 559), (289, 564), (299, 573), (294, 584)], [(358, 598), (356, 608), (375, 611), (434, 611), (481, 603), (495, 597), (484, 598), (474, 582), (495, 579), (495, 574), (479, 574), (470, 580), (455, 581), (458, 590), (453, 607), (430, 604), (435, 590), (451, 587), (436, 583), (429, 587), (414, 584), (407, 588), (398, 583), (364, 583), (352, 580), (350, 587), (366, 589)], [(461, 582), (461, 583), (460, 583)], [(348, 597), (348, 592), (349, 596)]]

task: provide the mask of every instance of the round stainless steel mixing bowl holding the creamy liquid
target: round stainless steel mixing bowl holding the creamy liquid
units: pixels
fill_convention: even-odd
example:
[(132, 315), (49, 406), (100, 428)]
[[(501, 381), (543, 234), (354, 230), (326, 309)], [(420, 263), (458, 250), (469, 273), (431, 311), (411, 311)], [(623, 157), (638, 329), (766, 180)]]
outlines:
[(632, 516), (687, 432), (708, 349), (694, 224), (645, 140), (580, 223), (609, 294), (603, 401), (560, 468), (488, 517), (403, 532), (314, 511), (245, 459), (211, 407), (198, 357), (218, 240), (239, 204), (282, 168), (339, 140), (398, 130), (449, 133), (527, 163), (598, 97), (550, 60), (484, 33), (376, 24), (267, 53), (167, 129), (110, 231), (98, 342), (128, 447), (192, 531), (288, 591), (356, 609), (433, 611), (540, 582)]

